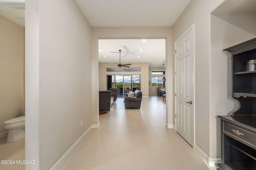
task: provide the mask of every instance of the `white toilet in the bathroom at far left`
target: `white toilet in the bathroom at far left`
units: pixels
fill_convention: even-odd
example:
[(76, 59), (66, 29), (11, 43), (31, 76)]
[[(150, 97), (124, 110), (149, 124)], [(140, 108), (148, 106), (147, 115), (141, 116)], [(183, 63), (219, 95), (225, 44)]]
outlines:
[(18, 141), (25, 137), (25, 116), (16, 117), (4, 122), (4, 129), (9, 130), (7, 142)]

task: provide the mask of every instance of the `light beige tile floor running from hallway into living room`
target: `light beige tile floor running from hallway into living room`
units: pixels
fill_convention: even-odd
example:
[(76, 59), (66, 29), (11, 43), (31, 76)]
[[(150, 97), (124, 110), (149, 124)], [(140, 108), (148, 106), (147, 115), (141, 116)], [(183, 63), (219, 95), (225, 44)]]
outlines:
[(216, 170), (165, 127), (165, 109), (161, 97), (142, 98), (140, 109), (118, 98), (60, 170)]

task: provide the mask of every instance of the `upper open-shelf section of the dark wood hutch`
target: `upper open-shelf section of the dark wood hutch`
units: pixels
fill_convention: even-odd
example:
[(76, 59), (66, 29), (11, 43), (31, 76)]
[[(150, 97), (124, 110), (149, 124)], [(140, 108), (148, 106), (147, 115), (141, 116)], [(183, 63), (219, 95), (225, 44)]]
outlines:
[(232, 54), (232, 94), (240, 102), (232, 116), (256, 116), (256, 70), (246, 71), (248, 61), (256, 59), (256, 38), (224, 51)]

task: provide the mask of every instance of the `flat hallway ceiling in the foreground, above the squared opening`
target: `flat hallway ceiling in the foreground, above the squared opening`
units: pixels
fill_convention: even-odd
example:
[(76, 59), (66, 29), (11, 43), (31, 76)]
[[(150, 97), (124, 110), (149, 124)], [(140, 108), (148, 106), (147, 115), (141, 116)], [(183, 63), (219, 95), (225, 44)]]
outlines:
[(172, 26), (190, 1), (76, 0), (76, 3), (92, 27), (159, 27)]

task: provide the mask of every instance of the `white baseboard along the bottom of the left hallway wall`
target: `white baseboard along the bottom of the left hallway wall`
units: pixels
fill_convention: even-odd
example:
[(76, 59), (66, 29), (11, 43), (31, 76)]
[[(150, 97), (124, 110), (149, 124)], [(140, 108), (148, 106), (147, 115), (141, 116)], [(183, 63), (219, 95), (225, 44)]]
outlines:
[(66, 151), (66, 153), (52, 166), (50, 170), (58, 170), (60, 166), (68, 159), (68, 157), (72, 154), (72, 152), (78, 147), (78, 145), (84, 140), (84, 138), (89, 134), (92, 130), (93, 125), (91, 125), (84, 134)]

